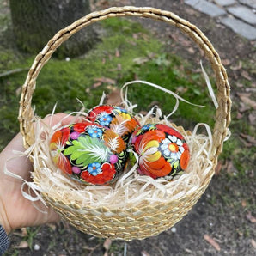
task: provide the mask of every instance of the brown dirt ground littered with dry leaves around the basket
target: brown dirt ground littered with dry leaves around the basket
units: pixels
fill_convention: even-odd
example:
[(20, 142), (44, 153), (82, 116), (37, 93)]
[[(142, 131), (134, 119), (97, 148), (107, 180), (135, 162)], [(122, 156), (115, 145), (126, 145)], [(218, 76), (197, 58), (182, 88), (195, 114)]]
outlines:
[[(253, 123), (255, 110), (240, 112), (240, 94), (253, 94), (256, 87), (255, 41), (242, 39), (229, 28), (209, 16), (198, 13), (183, 1), (131, 0), (100, 1), (93, 7), (103, 9), (114, 5), (152, 6), (167, 9), (197, 25), (219, 52), (229, 74), (233, 104), (233, 116)], [(197, 67), (201, 52), (188, 42), (177, 28), (160, 22), (143, 20), (143, 25), (155, 31), (167, 43), (167, 50), (180, 54), (194, 62)], [(242, 68), (241, 68), (242, 65)], [(254, 66), (255, 67), (255, 66)], [(248, 85), (241, 84), (243, 79)], [(242, 116), (241, 116), (242, 115)], [(251, 119), (249, 119), (251, 117)], [(255, 119), (254, 119), (255, 122)], [(232, 126), (231, 126), (232, 130)], [(235, 131), (236, 132), (236, 131)], [(236, 135), (235, 135), (236, 136)], [(251, 150), (251, 148), (246, 148)], [(232, 152), (230, 152), (232, 154)], [(232, 157), (230, 157), (232, 160)], [(251, 159), (248, 161), (255, 161)], [(253, 165), (251, 165), (253, 166)], [(161, 235), (143, 241), (113, 241), (108, 248), (104, 241), (76, 231), (66, 223), (46, 225), (36, 229), (32, 250), (15, 249), (21, 240), (11, 235), (10, 252), (18, 255), (255, 255), (255, 182), (253, 169), (247, 169), (248, 179), (235, 178), (239, 170), (227, 160), (222, 161), (220, 174), (213, 177), (209, 188), (190, 213)], [(229, 172), (227, 175), (225, 172)], [(254, 212), (253, 212), (254, 210)], [(34, 247), (39, 245), (39, 248)], [(38, 249), (38, 250), (35, 250)], [(107, 248), (107, 249), (106, 249)], [(106, 252), (108, 251), (108, 252)]]

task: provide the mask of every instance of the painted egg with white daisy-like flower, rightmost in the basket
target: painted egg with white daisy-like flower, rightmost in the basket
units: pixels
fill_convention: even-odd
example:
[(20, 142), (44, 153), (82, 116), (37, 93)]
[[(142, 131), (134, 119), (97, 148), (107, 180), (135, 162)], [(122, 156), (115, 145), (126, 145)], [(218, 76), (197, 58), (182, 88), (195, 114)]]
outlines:
[(179, 131), (168, 125), (143, 125), (131, 135), (129, 146), (138, 155), (138, 174), (172, 180), (186, 170), (190, 154)]

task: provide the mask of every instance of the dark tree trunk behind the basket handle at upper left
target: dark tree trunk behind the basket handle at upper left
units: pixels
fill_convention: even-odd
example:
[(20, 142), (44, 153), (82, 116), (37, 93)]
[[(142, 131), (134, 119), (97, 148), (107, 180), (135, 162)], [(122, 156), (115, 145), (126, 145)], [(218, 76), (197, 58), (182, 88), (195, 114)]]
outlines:
[[(58, 30), (89, 13), (89, 0), (10, 0), (17, 46), (30, 53), (42, 50)], [(59, 58), (87, 52), (97, 40), (92, 27), (72, 35), (58, 48)]]

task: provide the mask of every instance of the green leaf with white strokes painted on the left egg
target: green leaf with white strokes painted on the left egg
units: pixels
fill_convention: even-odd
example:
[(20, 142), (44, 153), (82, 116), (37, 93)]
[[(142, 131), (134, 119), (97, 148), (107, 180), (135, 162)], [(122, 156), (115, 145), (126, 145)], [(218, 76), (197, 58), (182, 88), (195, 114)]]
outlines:
[(80, 136), (73, 145), (64, 150), (64, 155), (70, 155), (70, 160), (77, 165), (88, 166), (92, 162), (107, 162), (110, 149), (96, 137)]

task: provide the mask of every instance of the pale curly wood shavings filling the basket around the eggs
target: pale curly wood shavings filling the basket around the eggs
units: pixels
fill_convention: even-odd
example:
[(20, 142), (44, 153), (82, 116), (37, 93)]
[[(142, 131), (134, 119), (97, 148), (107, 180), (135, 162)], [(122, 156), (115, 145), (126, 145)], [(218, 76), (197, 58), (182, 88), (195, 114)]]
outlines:
[[(140, 118), (140, 117), (137, 117)], [(143, 117), (143, 122), (152, 121), (152, 117)], [(54, 130), (46, 124), (36, 120), (36, 140), (34, 145), (34, 184), (39, 192), (50, 195), (51, 198), (77, 204), (82, 208), (110, 207), (112, 209), (129, 209), (144, 204), (157, 204), (177, 200), (190, 194), (201, 186), (202, 181), (212, 172), (213, 163), (209, 160), (211, 135), (197, 135), (198, 126), (204, 125), (207, 132), (210, 128), (205, 124), (198, 124), (195, 130), (180, 133), (186, 138), (191, 149), (191, 160), (185, 174), (172, 181), (154, 180), (149, 176), (137, 174), (137, 164), (128, 166), (125, 174), (113, 186), (84, 186), (63, 174), (52, 162), (49, 152), (49, 140)], [(165, 120), (157, 119), (166, 125)], [(59, 125), (55, 125), (58, 129)], [(176, 127), (177, 129), (177, 127)], [(40, 134), (44, 132), (46, 139)]]

